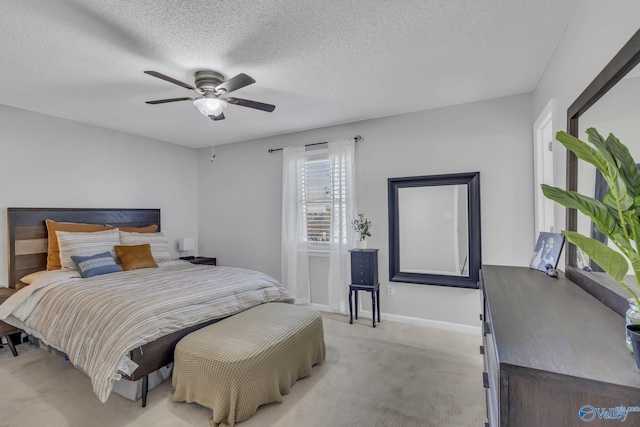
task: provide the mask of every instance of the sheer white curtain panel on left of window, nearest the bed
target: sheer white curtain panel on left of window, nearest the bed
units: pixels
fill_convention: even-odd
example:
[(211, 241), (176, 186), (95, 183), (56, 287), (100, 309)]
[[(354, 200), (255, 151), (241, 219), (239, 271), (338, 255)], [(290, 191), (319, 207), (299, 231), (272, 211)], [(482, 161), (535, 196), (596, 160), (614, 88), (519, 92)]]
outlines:
[(309, 253), (305, 234), (306, 218), (302, 211), (302, 170), (304, 147), (283, 149), (282, 174), (282, 285), (296, 299), (296, 304), (309, 304)]

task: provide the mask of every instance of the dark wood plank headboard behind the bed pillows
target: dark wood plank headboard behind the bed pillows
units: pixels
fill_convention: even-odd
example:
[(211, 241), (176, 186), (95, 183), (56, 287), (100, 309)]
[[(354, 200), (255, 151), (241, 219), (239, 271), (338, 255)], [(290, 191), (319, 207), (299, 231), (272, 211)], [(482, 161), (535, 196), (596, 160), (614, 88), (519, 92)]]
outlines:
[(10, 288), (21, 277), (47, 269), (47, 219), (116, 227), (157, 224), (160, 231), (160, 209), (7, 208)]

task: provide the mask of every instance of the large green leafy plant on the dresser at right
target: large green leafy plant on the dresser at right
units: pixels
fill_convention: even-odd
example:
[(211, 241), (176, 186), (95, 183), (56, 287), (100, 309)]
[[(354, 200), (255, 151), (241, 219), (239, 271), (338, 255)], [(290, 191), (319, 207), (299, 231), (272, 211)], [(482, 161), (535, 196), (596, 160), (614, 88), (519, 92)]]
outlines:
[(591, 218), (598, 230), (615, 244), (620, 252), (575, 231), (562, 231), (569, 242), (582, 249), (629, 292), (640, 307), (638, 293), (624, 283), (630, 262), (640, 288), (640, 172), (629, 149), (613, 134), (604, 139), (594, 128), (587, 129), (586, 133), (590, 144), (562, 131), (556, 134), (556, 139), (580, 160), (600, 171), (609, 186), (603, 202), (576, 191), (545, 184), (542, 185), (542, 192), (545, 197), (564, 207), (577, 209)]

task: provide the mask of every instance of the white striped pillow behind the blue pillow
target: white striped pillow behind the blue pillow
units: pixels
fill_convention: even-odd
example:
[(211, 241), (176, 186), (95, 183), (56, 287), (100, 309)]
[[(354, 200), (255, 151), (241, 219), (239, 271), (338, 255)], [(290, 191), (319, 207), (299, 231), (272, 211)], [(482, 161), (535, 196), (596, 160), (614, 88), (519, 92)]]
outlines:
[(75, 231), (56, 231), (58, 248), (60, 249), (60, 264), (63, 270), (77, 270), (78, 266), (71, 259), (72, 256), (95, 255), (111, 252), (116, 262), (120, 262), (115, 246), (120, 244), (120, 230), (93, 231), (81, 233)]

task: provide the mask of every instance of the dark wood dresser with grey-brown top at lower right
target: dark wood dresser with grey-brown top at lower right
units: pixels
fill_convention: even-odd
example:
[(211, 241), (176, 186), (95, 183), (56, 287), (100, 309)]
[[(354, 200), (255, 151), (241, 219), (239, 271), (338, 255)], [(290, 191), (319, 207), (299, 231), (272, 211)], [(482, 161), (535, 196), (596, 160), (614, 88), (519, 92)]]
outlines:
[(612, 426), (620, 407), (640, 411), (623, 317), (562, 273), (487, 265), (481, 289), (489, 426)]

